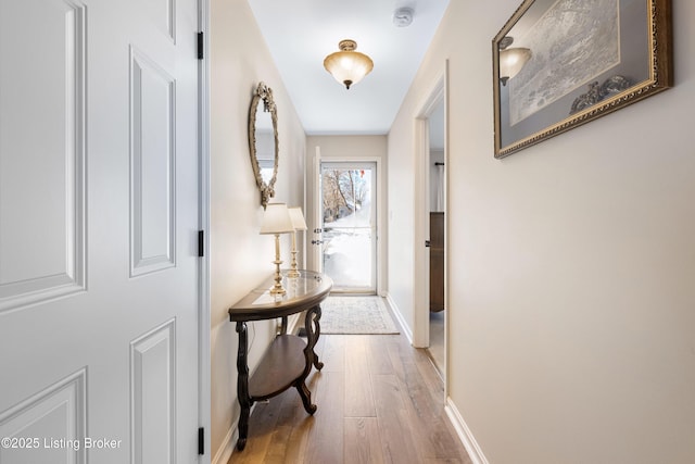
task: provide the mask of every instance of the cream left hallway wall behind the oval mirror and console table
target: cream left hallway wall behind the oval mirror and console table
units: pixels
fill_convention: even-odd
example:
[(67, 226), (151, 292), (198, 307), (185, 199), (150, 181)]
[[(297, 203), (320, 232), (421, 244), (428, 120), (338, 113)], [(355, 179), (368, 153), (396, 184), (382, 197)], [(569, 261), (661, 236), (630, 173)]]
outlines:
[[(211, 354), (212, 455), (226, 463), (239, 415), (235, 324), (227, 310), (274, 271), (270, 236), (261, 236), (261, 196), (247, 135), (260, 80), (273, 88), (280, 140), (274, 201), (301, 204), (306, 137), (247, 0), (211, 1)], [(285, 238), (283, 250), (289, 242)], [(249, 325), (253, 369), (275, 322)], [(215, 462), (215, 461), (213, 461)]]

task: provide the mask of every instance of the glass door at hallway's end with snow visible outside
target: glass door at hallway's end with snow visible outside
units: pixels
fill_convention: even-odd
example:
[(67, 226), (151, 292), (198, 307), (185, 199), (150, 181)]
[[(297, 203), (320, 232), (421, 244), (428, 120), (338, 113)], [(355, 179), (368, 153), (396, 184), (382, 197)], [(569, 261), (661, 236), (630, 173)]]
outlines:
[(376, 293), (377, 167), (374, 162), (321, 162), (323, 272), (333, 292)]

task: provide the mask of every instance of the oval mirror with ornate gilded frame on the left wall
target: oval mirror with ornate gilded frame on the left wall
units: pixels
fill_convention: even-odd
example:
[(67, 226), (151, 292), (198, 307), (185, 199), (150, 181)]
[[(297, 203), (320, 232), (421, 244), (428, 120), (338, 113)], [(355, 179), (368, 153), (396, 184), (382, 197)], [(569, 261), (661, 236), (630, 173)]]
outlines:
[(278, 174), (278, 113), (273, 89), (264, 83), (258, 83), (249, 109), (249, 150), (261, 204), (265, 209), (268, 200), (275, 197)]

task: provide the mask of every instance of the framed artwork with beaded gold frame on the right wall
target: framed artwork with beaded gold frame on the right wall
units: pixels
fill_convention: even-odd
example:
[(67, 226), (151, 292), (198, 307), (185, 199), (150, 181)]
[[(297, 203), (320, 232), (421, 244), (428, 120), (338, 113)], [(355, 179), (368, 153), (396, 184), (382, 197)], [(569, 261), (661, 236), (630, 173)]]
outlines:
[(671, 3), (525, 0), (492, 57), (504, 158), (671, 87)]

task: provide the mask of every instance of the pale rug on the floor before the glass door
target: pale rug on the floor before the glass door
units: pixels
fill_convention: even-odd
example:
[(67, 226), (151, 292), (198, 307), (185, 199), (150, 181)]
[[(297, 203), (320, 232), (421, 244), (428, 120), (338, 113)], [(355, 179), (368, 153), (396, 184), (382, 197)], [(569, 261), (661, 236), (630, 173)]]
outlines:
[(380, 297), (328, 297), (320, 325), (321, 334), (399, 334)]

